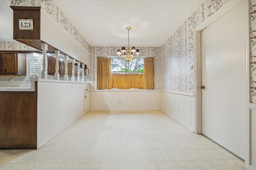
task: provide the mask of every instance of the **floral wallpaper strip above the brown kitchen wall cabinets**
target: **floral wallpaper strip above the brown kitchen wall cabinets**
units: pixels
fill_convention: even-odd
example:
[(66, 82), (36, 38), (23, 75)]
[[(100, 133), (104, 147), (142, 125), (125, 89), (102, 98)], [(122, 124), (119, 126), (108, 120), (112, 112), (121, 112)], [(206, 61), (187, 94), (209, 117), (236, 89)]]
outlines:
[(0, 51), (38, 51), (20, 42), (0, 42)]

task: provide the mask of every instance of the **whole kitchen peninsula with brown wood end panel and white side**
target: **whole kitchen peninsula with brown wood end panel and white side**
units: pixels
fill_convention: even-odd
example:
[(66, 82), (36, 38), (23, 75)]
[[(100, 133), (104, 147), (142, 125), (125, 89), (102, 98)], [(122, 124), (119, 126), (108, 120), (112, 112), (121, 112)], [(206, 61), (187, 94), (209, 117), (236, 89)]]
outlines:
[(88, 111), (88, 82), (30, 81), (31, 87), (0, 87), (0, 149), (38, 149)]

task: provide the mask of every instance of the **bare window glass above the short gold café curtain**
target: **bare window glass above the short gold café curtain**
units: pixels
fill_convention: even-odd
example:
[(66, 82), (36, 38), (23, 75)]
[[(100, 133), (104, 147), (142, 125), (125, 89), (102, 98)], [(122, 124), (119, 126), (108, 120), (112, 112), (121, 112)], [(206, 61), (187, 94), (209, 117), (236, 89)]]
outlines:
[(127, 73), (140, 72), (144, 73), (144, 59), (134, 59), (131, 62), (123, 61), (118, 58), (111, 58), (111, 72)]

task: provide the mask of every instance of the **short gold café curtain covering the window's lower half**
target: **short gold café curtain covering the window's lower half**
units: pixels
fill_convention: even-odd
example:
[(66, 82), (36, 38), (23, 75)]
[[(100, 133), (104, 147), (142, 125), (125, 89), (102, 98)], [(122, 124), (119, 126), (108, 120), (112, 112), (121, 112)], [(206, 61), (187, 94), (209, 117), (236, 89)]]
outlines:
[(143, 89), (143, 74), (142, 73), (112, 73), (112, 88)]

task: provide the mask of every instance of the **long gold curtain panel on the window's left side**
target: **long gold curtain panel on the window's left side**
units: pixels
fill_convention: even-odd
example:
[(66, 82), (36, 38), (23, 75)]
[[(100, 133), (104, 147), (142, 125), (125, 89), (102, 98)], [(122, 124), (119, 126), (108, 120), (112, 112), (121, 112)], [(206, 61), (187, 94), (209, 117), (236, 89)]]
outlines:
[(98, 89), (111, 89), (110, 58), (98, 58)]

